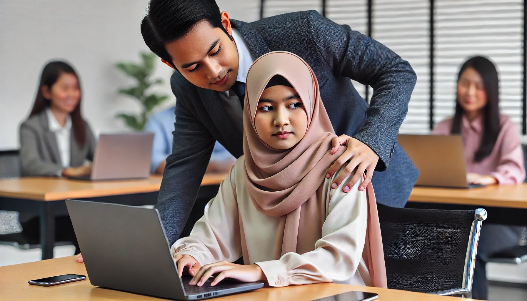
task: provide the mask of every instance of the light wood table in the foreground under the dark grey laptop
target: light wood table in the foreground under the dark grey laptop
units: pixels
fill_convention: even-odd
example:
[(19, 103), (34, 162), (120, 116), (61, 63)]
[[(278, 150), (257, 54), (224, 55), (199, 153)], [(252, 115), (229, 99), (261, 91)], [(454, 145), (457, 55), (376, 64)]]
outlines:
[[(162, 300), (160, 298), (95, 287), (90, 280), (76, 281), (51, 287), (29, 285), (28, 280), (63, 274), (86, 275), (84, 264), (74, 256), (48, 259), (21, 265), (0, 267), (0, 296), (5, 300)], [(361, 287), (344, 284), (311, 284), (282, 288), (260, 288), (245, 294), (218, 298), (221, 300), (313, 300), (352, 290), (379, 294), (379, 301), (447, 301), (466, 300), (404, 290)], [(163, 299), (164, 300), (164, 299)], [(216, 299), (214, 299), (216, 300)]]

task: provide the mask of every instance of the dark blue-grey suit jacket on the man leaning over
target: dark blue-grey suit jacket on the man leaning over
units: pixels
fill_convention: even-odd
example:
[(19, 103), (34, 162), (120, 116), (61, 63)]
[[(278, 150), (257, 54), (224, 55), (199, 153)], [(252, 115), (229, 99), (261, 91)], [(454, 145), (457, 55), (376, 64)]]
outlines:
[[(416, 80), (408, 62), (316, 11), (231, 23), (253, 57), (285, 50), (311, 66), (335, 132), (363, 141), (380, 158), (376, 170), (383, 172), (376, 171), (372, 181), (377, 201), (403, 207), (418, 176), (396, 142)], [(373, 87), (370, 106), (349, 79)], [(171, 86), (177, 98), (173, 153), (167, 158), (157, 203), (170, 244), (192, 209), (214, 141), (237, 158), (243, 154), (243, 129), (229, 118), (219, 92), (198, 88), (179, 72), (173, 73)]]

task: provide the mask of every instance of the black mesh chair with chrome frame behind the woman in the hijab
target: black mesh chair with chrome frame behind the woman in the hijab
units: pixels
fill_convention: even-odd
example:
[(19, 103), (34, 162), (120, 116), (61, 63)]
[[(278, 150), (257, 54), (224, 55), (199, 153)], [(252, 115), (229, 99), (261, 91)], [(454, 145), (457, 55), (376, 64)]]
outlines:
[(485, 209), (469, 211), (378, 205), (388, 288), (472, 296)]

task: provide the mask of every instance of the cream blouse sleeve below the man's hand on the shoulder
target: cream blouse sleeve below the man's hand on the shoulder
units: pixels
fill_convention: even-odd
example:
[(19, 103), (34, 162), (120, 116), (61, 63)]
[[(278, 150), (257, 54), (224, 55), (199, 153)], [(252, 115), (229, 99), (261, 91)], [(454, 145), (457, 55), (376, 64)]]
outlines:
[[(335, 172), (338, 174), (340, 172)], [(362, 181), (348, 193), (342, 191), (348, 180), (330, 191), (328, 215), (315, 250), (304, 254), (287, 253), (278, 260), (256, 263), (270, 286), (321, 282), (349, 284), (358, 273), (366, 239), (367, 200), (366, 191), (358, 190)], [(328, 185), (331, 181), (333, 179), (327, 180)]]

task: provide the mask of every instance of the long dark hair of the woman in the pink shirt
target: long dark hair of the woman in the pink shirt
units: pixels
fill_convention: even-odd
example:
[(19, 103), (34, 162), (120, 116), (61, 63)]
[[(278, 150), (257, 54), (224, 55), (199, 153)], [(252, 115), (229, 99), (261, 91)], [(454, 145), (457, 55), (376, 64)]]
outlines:
[[(480, 74), (487, 94), (487, 104), (483, 108), (483, 137), (480, 147), (474, 154), (474, 160), (479, 162), (489, 156), (496, 143), (497, 135), (500, 133), (500, 109), (498, 108), (499, 90), (497, 71), (494, 64), (483, 56), (474, 56), (461, 66), (460, 73), (457, 75), (457, 82), (460, 81), (461, 74), (472, 67)], [(456, 112), (452, 123), (453, 134), (461, 133), (461, 118), (464, 110), (457, 99), (456, 93)]]

